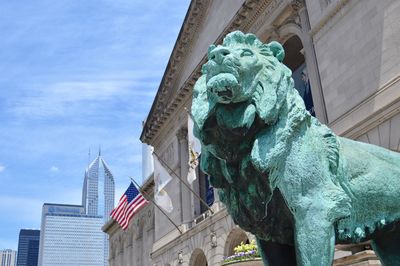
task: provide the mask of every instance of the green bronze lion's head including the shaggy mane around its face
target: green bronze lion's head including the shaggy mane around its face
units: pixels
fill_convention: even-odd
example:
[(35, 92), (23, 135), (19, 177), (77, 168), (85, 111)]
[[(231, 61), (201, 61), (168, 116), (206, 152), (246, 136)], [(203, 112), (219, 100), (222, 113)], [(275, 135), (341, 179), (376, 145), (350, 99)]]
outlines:
[(292, 72), (282, 63), (284, 55), (278, 42), (263, 44), (254, 34), (240, 31), (228, 34), (222, 45), (209, 47), (192, 102), (195, 135), (203, 144), (208, 143), (199, 132), (213, 116), (220, 127), (242, 137), (254, 121), (275, 124), (282, 108), (290, 112), (287, 109), (295, 107), (297, 113), (305, 113)]

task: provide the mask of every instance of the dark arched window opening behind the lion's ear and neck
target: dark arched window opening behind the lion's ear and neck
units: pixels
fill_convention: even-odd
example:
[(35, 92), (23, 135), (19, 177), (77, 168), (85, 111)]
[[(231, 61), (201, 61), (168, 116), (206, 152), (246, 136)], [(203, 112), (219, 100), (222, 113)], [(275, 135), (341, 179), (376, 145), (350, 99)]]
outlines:
[(296, 35), (290, 37), (284, 44), (285, 59), (283, 63), (292, 70), (295, 88), (304, 100), (307, 111), (315, 116), (314, 102), (311, 94), (310, 81), (305, 63), (303, 44)]

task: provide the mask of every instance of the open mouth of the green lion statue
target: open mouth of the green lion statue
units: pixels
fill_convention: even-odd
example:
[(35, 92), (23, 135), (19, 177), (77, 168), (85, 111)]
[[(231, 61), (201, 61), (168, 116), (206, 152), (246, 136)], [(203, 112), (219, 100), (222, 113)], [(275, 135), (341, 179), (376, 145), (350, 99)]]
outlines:
[(236, 77), (230, 73), (220, 73), (207, 82), (207, 88), (217, 96), (221, 102), (228, 102), (233, 98), (235, 88), (239, 86)]

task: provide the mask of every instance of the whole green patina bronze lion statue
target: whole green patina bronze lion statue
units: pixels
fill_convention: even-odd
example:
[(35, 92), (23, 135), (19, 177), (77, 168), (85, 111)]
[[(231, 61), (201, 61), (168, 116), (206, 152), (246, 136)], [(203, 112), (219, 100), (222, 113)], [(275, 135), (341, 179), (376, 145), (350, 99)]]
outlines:
[(210, 46), (192, 102), (201, 168), (265, 265), (327, 266), (335, 243), (369, 239), (400, 265), (400, 154), (320, 124), (283, 58), (239, 31)]

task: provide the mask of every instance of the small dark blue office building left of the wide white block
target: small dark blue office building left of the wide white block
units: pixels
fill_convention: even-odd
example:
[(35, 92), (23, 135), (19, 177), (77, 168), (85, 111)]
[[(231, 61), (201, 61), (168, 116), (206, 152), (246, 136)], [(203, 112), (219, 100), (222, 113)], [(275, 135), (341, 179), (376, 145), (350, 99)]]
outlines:
[(40, 230), (21, 229), (18, 240), (17, 266), (37, 266)]

